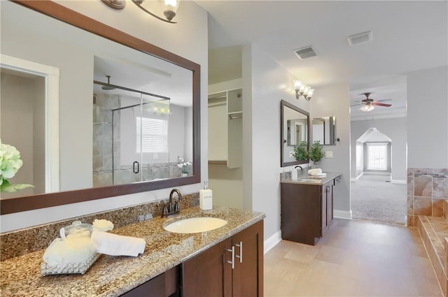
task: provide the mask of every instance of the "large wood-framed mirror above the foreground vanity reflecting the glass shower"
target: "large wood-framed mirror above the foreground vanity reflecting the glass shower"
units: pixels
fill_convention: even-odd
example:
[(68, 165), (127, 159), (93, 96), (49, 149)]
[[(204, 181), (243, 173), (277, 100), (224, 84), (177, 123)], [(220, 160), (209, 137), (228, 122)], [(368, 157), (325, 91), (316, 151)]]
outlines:
[(1, 55), (0, 138), (36, 184), (2, 215), (200, 182), (200, 65), (52, 1), (1, 1)]

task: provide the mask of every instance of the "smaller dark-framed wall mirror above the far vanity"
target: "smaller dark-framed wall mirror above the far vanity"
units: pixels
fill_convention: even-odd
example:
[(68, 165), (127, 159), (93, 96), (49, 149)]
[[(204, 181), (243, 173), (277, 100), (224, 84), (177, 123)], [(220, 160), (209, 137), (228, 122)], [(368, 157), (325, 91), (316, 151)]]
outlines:
[(280, 119), (281, 167), (309, 163), (309, 160), (296, 160), (292, 155), (295, 145), (302, 141), (309, 146), (309, 113), (282, 100)]

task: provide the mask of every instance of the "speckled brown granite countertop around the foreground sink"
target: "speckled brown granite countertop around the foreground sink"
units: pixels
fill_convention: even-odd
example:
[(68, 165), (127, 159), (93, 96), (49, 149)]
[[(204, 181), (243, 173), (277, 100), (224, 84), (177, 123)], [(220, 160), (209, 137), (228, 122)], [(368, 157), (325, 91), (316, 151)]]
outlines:
[[(225, 226), (202, 233), (179, 234), (163, 224), (188, 217), (219, 217)], [(181, 210), (170, 218), (155, 217), (111, 233), (144, 238), (144, 254), (137, 257), (102, 255), (84, 275), (41, 275), (44, 249), (0, 262), (0, 295), (3, 296), (120, 296), (183, 261), (259, 222), (261, 212), (223, 208)]]

